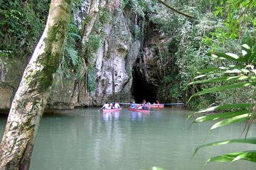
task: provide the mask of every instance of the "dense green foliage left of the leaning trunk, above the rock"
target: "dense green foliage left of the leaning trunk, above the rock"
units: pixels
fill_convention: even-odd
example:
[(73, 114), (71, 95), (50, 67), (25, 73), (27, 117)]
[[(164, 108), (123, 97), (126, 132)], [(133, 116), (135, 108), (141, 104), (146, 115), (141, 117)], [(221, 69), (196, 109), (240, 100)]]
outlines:
[(0, 50), (9, 57), (32, 55), (45, 27), (48, 1), (0, 1)]

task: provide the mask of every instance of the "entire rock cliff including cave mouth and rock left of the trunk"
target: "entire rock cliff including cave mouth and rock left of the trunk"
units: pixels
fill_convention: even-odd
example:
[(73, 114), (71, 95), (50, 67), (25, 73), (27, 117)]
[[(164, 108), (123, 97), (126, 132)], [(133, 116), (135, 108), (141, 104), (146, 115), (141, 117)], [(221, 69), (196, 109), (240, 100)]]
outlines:
[[(85, 74), (86, 81), (78, 81), (75, 77), (64, 79), (56, 75), (48, 109), (101, 106), (106, 101), (127, 103), (136, 100), (139, 103), (144, 96), (147, 100), (154, 102), (159, 98), (158, 90), (163, 78), (163, 68), (161, 68), (163, 61), (155, 56), (156, 51), (164, 50), (164, 47), (158, 50), (154, 47), (154, 44), (162, 41), (160, 33), (150, 30), (151, 32), (145, 33), (144, 37), (137, 36), (134, 29), (140, 29), (139, 17), (131, 8), (121, 8), (121, 0), (113, 0), (108, 4), (106, 1), (92, 2), (83, 1), (82, 7), (75, 12), (75, 22), (78, 28), (87, 31), (82, 34), (82, 45), (86, 44), (92, 32), (96, 35), (104, 35), (100, 37), (100, 46), (92, 54), (93, 60), (90, 61), (95, 79), (92, 79), (89, 74)], [(107, 11), (110, 18), (107, 22), (101, 23), (100, 28), (94, 30), (92, 26), (97, 17), (100, 17), (99, 9), (102, 8)], [(91, 20), (87, 25), (83, 25), (86, 17)], [(0, 67), (0, 109), (10, 108), (11, 99), (18, 87), (25, 63), (22, 67), (19, 64), (11, 66), (12, 69), (19, 67), (16, 69), (17, 73), (7, 70), (6, 67)], [(80, 72), (87, 72), (86, 63)], [(16, 81), (9, 81), (12, 79), (10, 77)], [(95, 81), (94, 90), (88, 89), (88, 81)]]

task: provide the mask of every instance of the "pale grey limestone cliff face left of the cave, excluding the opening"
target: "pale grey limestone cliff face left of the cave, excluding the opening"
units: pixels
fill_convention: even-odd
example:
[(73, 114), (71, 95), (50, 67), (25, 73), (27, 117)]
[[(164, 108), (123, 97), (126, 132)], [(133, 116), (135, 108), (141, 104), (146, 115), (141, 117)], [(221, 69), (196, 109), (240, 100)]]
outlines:
[[(94, 5), (94, 8), (107, 9), (109, 15), (113, 16), (100, 30), (104, 32), (105, 36), (101, 39), (101, 45), (97, 52), (93, 54), (96, 75), (95, 91), (88, 91), (84, 86), (75, 86), (75, 79), (73, 79), (73, 83), (62, 86), (62, 90), (53, 90), (48, 101), (50, 108), (63, 108), (63, 103), (67, 103), (64, 106), (72, 108), (75, 106), (101, 106), (106, 101), (128, 102), (133, 100), (131, 94), (132, 69), (139, 55), (140, 42), (133, 40), (124, 12), (118, 11), (120, 10), (119, 4), (120, 1), (111, 1), (110, 4)], [(85, 6), (85, 8), (87, 7)], [(87, 15), (90, 15), (90, 10)], [(82, 25), (80, 21), (83, 20), (78, 18), (78, 26)], [(59, 84), (58, 87), (60, 87)], [(70, 91), (70, 93), (65, 92), (66, 96), (62, 97), (60, 94), (63, 94), (64, 91)]]

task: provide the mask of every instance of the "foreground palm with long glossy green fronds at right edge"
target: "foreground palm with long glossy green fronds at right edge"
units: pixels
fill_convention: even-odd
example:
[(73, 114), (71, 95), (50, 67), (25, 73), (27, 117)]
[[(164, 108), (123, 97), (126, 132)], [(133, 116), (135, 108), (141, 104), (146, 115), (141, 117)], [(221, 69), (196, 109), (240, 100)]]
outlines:
[[(233, 142), (256, 145), (256, 138), (247, 138), (247, 132), (250, 129), (250, 125), (255, 120), (256, 112), (256, 44), (255, 41), (248, 36), (243, 40), (243, 42), (244, 44), (242, 45), (241, 55), (235, 55), (229, 52), (208, 53), (208, 55), (213, 58), (227, 60), (232, 64), (221, 62), (225, 64), (222, 67), (211, 67), (199, 71), (198, 77), (195, 77), (195, 81), (191, 82), (190, 85), (214, 84), (218, 82), (218, 86), (213, 86), (212, 88), (198, 91), (196, 94), (193, 94), (191, 98), (204, 94), (218, 93), (220, 91), (235, 91), (236, 89), (249, 91), (250, 95), (248, 95), (247, 98), (240, 100), (240, 102), (220, 103), (217, 106), (212, 106), (202, 111), (197, 111), (196, 113), (189, 115), (188, 118), (194, 117), (195, 120), (193, 123), (203, 123), (213, 120), (214, 122), (217, 121), (217, 123), (214, 123), (214, 125), (210, 128), (209, 132), (225, 125), (246, 121), (247, 124), (245, 128), (247, 130), (245, 132), (245, 138), (201, 145), (196, 148), (196, 151), (201, 147), (225, 145)], [(233, 162), (239, 159), (256, 162), (256, 150), (223, 154), (218, 157), (208, 159), (207, 163)]]

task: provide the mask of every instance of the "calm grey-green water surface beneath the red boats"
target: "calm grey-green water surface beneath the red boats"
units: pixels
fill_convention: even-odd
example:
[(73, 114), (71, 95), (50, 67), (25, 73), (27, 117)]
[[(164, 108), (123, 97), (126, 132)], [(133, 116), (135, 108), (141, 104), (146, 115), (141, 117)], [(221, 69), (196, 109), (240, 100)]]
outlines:
[[(256, 164), (238, 161), (211, 163), (209, 157), (254, 149), (231, 144), (206, 147), (191, 159), (206, 139), (213, 123), (185, 123), (188, 113), (177, 108), (151, 109), (150, 113), (122, 111), (102, 113), (99, 108), (80, 108), (46, 114), (41, 120), (33, 149), (32, 170), (139, 170), (159, 166), (165, 170), (256, 169)], [(6, 116), (0, 118), (0, 138)], [(206, 142), (239, 138), (244, 124), (210, 133)], [(255, 132), (253, 125), (249, 137)]]

